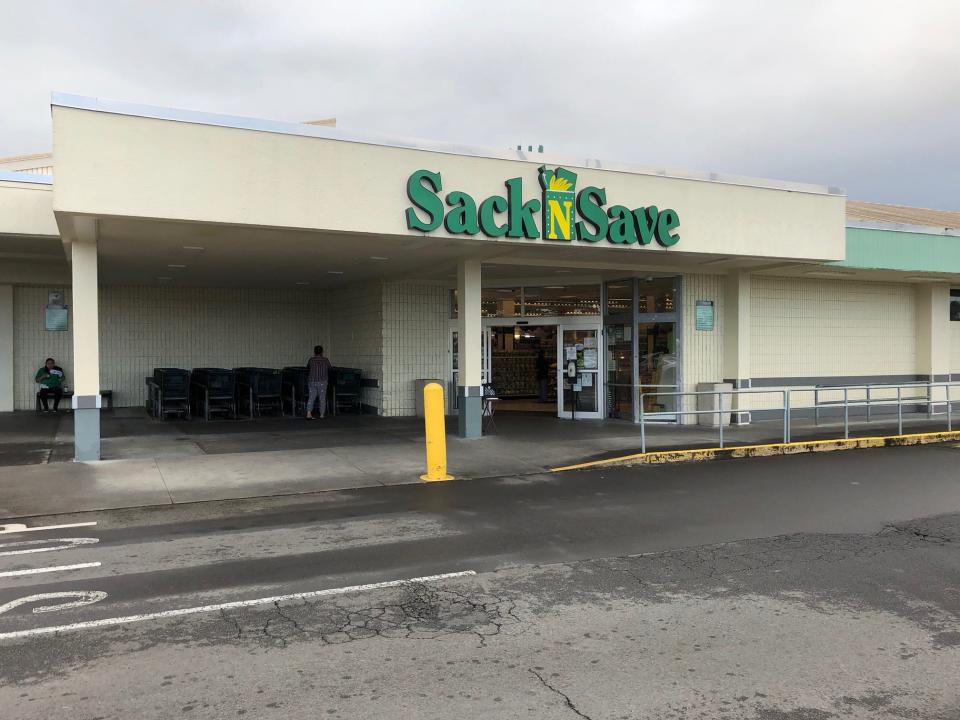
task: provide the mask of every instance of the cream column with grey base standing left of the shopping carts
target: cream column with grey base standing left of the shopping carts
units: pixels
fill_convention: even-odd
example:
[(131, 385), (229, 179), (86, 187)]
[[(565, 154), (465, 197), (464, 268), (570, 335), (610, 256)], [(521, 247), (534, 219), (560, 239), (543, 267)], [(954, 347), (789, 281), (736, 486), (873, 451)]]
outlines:
[(100, 308), (97, 244), (73, 242), (74, 459), (100, 459)]

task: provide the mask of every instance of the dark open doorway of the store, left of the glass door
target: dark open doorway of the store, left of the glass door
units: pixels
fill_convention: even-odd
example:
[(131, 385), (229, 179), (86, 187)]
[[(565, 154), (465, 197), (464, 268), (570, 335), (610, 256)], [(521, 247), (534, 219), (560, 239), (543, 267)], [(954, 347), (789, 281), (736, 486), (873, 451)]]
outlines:
[(490, 382), (497, 412), (557, 412), (557, 326), (490, 328)]

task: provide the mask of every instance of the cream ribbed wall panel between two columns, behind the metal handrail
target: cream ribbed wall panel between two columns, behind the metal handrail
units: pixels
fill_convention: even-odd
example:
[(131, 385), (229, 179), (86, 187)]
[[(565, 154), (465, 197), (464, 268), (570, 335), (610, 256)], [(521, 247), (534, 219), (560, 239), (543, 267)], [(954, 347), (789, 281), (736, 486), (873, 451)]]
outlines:
[(910, 285), (754, 275), (750, 310), (753, 377), (916, 372)]

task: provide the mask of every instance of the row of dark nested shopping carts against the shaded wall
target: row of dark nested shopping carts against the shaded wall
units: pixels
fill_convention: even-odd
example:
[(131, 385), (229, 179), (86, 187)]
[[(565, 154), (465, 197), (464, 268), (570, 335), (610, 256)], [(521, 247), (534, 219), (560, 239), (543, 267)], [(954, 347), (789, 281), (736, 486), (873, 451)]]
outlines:
[[(145, 378), (147, 414), (157, 420), (303, 415), (308, 386), (305, 367), (154, 368)], [(334, 414), (361, 411), (361, 373), (331, 368), (328, 407)]]

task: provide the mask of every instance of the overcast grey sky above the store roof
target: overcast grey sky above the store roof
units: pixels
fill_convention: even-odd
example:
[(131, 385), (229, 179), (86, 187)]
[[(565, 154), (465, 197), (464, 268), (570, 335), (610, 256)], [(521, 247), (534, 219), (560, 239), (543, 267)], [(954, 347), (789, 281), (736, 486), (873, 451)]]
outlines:
[(0, 0), (0, 155), (51, 90), (960, 209), (956, 0)]

